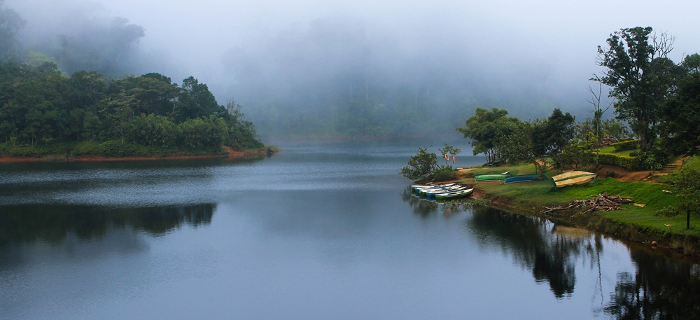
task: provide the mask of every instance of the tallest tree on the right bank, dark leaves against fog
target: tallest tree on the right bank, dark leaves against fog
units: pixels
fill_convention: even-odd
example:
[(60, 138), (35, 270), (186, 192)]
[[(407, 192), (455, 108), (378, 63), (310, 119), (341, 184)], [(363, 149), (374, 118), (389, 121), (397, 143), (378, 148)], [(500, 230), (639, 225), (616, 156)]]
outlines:
[(654, 34), (650, 43), (651, 33), (652, 27), (634, 27), (610, 34), (607, 48), (598, 46), (598, 65), (606, 69), (591, 78), (610, 87), (608, 96), (617, 99), (617, 118), (631, 125), (642, 151), (654, 143), (659, 108), (678, 73), (667, 57), (673, 37)]

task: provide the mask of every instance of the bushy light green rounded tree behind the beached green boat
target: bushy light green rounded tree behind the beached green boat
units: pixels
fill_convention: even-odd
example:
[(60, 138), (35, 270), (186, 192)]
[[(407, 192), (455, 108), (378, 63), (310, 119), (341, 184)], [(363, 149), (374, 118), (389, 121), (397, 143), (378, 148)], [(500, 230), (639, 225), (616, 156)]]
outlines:
[(465, 138), (470, 139), (474, 155), (484, 153), (486, 161), (491, 163), (499, 160), (497, 142), (512, 134), (521, 123), (518, 118), (508, 117), (508, 111), (492, 108), (491, 111), (477, 108), (476, 114), (465, 121), (464, 127), (457, 127)]

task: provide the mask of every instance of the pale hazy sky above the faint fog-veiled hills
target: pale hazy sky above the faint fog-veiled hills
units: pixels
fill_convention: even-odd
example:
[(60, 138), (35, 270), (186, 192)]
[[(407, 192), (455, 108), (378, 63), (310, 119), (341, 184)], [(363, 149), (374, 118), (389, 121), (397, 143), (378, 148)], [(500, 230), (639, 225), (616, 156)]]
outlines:
[(222, 63), (225, 53), (252, 48), (254, 55), (262, 56), (275, 39), (303, 35), (318, 21), (356, 27), (375, 66), (391, 64), (392, 57), (416, 64), (461, 63), (470, 66), (461, 72), (507, 83), (503, 88), (534, 86), (570, 107), (586, 106), (588, 78), (598, 71), (596, 47), (615, 30), (651, 26), (672, 34), (676, 41), (671, 58), (677, 62), (683, 53), (700, 51), (696, 18), (700, 1), (8, 0), (7, 4), (29, 25), (78, 12), (127, 18), (146, 29), (139, 48), (172, 67), (169, 74), (144, 71), (160, 71), (178, 82), (193, 75), (209, 84), (220, 102), (237, 94), (236, 81)]

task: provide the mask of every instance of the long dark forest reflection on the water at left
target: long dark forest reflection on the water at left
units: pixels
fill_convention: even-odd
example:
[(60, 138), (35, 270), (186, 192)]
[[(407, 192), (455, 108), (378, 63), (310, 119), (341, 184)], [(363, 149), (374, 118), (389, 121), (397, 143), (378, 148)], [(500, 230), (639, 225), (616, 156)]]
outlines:
[(127, 226), (158, 236), (183, 225), (207, 225), (214, 209), (215, 204), (118, 209), (44, 204), (1, 207), (0, 247), (38, 240), (58, 243), (69, 233), (94, 239), (104, 237), (110, 228)]

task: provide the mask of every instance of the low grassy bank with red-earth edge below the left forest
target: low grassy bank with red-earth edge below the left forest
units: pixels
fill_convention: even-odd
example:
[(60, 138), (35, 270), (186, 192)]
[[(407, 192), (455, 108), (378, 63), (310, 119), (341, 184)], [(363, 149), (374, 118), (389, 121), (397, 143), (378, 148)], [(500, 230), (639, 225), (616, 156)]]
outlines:
[[(274, 147), (272, 147), (274, 148)], [(276, 148), (275, 148), (276, 149)], [(241, 151), (246, 154), (265, 154), (267, 147)], [(34, 146), (15, 146), (10, 142), (0, 144), (0, 156), (12, 158), (37, 158), (40, 160), (71, 160), (85, 157), (172, 157), (172, 156), (225, 156), (223, 148), (176, 148), (167, 146), (143, 146), (118, 140), (110, 141), (80, 141), (52, 144), (36, 144)]]

